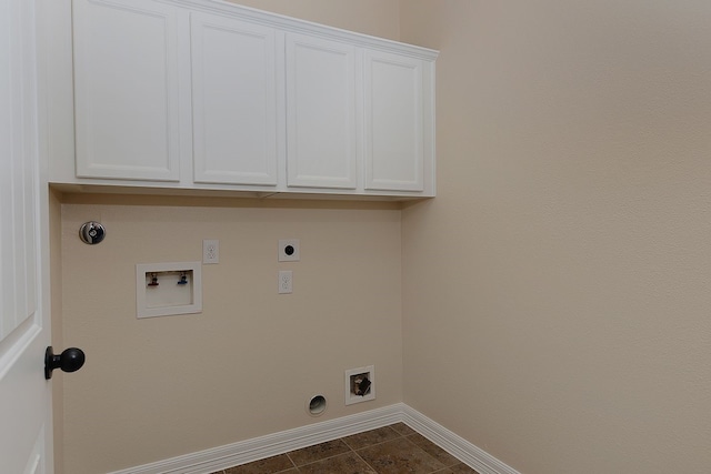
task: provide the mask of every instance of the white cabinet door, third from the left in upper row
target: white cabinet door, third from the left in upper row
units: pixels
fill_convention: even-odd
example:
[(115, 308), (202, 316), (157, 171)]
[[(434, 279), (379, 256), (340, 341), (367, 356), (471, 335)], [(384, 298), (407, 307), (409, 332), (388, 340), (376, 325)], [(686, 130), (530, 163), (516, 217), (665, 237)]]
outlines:
[(356, 48), (287, 34), (287, 184), (356, 189)]

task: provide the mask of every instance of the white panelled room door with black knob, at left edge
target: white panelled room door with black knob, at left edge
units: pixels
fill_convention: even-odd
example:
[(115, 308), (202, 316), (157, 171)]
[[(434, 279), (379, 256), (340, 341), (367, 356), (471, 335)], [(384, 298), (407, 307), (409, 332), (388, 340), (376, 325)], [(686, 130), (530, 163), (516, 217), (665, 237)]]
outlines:
[[(34, 2), (0, 0), (0, 472), (52, 473)], [(44, 192), (44, 198), (47, 194)], [(40, 209), (40, 206), (43, 206)]]

